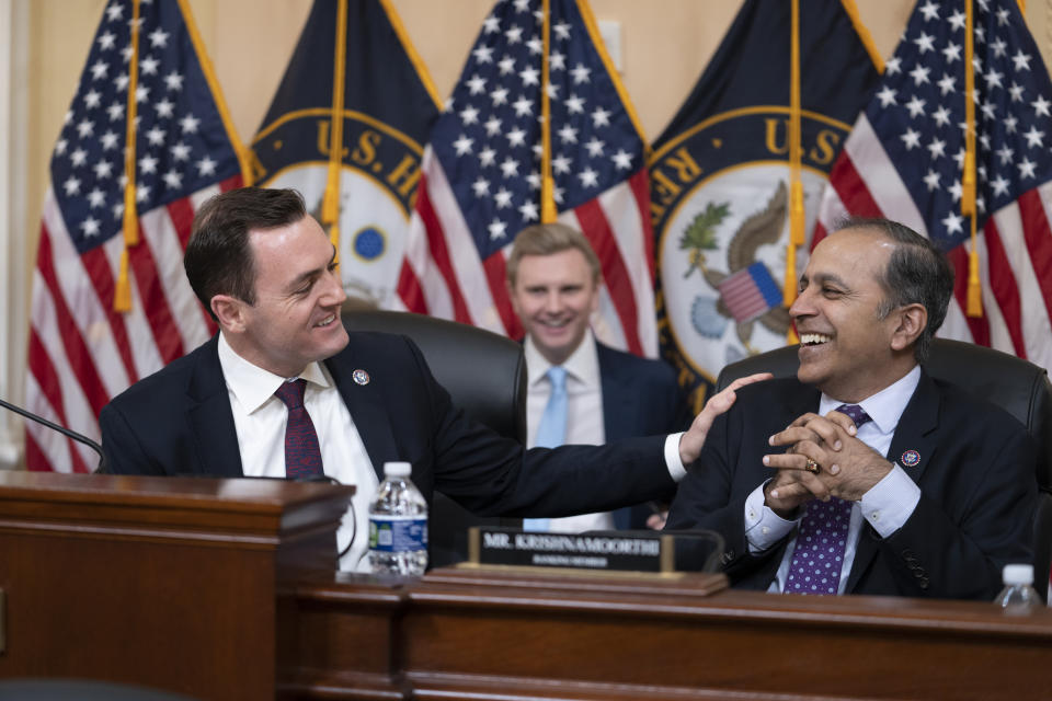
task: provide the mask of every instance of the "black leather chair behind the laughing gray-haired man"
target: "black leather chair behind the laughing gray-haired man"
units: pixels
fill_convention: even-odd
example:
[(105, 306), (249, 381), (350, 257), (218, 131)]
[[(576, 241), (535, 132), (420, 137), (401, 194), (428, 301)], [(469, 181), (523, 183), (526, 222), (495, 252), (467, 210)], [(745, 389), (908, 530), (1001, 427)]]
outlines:
[[(719, 391), (753, 372), (790, 377), (798, 367), (797, 346), (778, 348), (727, 366), (716, 387)], [(952, 382), (1000, 406), (1033, 438), (1040, 490), (1033, 522), (1033, 578), (1034, 588), (1044, 598), (1052, 563), (1052, 383), (1048, 372), (1006, 353), (946, 338), (934, 340), (925, 369), (935, 379)]]

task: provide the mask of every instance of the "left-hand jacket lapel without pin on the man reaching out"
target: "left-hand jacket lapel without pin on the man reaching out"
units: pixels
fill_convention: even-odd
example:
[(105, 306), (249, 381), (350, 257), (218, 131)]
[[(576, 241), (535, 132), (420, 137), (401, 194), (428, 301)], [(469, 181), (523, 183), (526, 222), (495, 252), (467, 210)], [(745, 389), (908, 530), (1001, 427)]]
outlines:
[(186, 389), (187, 422), (194, 436), (199, 472), (209, 476), (244, 476), (238, 430), (230, 411), (227, 382), (219, 365), (219, 335), (201, 348)]

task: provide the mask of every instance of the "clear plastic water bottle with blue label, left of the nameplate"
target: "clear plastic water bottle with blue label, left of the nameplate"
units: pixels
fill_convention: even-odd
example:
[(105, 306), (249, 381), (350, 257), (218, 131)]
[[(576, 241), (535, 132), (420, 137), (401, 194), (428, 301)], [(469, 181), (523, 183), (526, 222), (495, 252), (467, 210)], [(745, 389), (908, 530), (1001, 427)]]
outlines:
[(427, 502), (408, 462), (384, 464), (369, 506), (369, 565), (376, 574), (420, 576), (427, 568)]

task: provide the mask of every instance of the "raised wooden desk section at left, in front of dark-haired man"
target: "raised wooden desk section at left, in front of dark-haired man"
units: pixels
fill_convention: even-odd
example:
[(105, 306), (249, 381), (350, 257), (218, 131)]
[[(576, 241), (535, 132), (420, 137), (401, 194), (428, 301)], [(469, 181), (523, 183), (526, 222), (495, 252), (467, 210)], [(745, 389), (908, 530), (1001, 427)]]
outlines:
[(331, 572), (353, 492), (0, 471), (0, 678), (273, 698), (277, 578)]

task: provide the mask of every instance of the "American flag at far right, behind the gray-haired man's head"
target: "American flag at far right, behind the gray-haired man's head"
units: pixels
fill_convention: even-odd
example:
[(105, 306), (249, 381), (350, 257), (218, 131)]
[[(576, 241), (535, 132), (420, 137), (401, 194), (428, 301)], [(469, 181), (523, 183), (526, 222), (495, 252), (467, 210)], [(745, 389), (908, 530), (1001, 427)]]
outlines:
[(833, 169), (814, 240), (846, 212), (902, 221), (936, 241), (957, 271), (939, 335), (1052, 368), (1052, 84), (1015, 0), (973, 7), (983, 317), (964, 314), (963, 2), (917, 3)]

